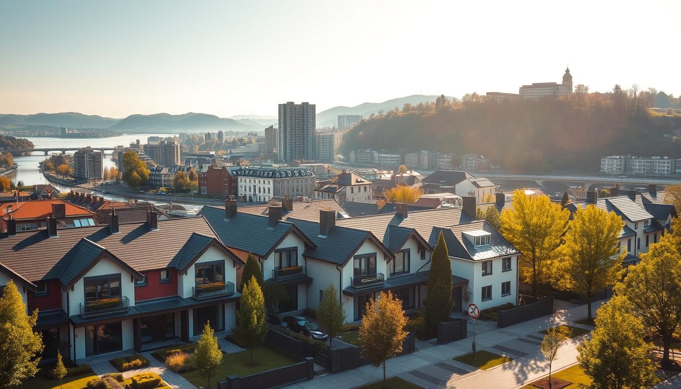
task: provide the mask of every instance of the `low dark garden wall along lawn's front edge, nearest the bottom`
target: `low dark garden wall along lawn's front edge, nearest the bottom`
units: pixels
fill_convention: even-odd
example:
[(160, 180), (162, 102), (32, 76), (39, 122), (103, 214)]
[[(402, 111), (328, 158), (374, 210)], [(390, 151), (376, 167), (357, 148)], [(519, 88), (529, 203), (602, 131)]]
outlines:
[(293, 382), (312, 379), (315, 376), (315, 364), (312, 358), (305, 358), (303, 362), (289, 364), (289, 366), (279, 367), (263, 371), (257, 374), (239, 377), (229, 375), (225, 381), (217, 383), (217, 389), (266, 389), (275, 388)]

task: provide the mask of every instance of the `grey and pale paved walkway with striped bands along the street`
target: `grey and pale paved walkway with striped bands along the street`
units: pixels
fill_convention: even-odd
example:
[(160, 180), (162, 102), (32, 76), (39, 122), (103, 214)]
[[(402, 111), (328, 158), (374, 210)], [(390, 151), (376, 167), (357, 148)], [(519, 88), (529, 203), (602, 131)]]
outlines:
[[(592, 303), (593, 312), (601, 306), (601, 302), (603, 301)], [(450, 380), (451, 384), (447, 385), (447, 388), (487, 388), (492, 383), (494, 383), (495, 388), (516, 388), (528, 380), (534, 380), (548, 373), (548, 365), (543, 360), (541, 353), (537, 352), (539, 344), (541, 344), (541, 334), (537, 332), (545, 330), (552, 323), (555, 323), (555, 325), (567, 324), (584, 317), (586, 317), (586, 305), (580, 305), (557, 311), (553, 316), (539, 317), (506, 328), (493, 328), (488, 325), (477, 326), (477, 329), (484, 328), (484, 332), (477, 332), (475, 339), (477, 349), (488, 349), (496, 354), (505, 354), (515, 358), (511, 362), (487, 371), (475, 370), (473, 367), (459, 364), (452, 359), (471, 352), (473, 326), (469, 324), (469, 337), (467, 339), (446, 345), (435, 345), (428, 349), (418, 349), (412, 354), (392, 358), (387, 361), (386, 375), (387, 377), (395, 375), (402, 378), (409, 377), (409, 381), (424, 388), (443, 388)], [(571, 326), (580, 325), (571, 324)], [(560, 350), (559, 359), (554, 361), (553, 368), (555, 370), (567, 367), (576, 361), (575, 347), (583, 337), (584, 335), (575, 338)], [(310, 381), (285, 386), (285, 388), (349, 389), (382, 378), (383, 371), (381, 369), (374, 369), (368, 365), (343, 373), (323, 375)], [(417, 381), (419, 379), (420, 381)]]

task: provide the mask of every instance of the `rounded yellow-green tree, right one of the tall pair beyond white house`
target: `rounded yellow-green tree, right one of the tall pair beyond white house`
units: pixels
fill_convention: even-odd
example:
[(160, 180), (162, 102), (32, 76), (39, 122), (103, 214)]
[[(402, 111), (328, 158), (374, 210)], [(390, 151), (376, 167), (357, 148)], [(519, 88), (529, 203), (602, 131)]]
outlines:
[(564, 258), (558, 264), (558, 287), (586, 297), (591, 320), (591, 300), (595, 293), (622, 279), (622, 260), (627, 255), (618, 246), (622, 218), (590, 204), (577, 208), (569, 222)]

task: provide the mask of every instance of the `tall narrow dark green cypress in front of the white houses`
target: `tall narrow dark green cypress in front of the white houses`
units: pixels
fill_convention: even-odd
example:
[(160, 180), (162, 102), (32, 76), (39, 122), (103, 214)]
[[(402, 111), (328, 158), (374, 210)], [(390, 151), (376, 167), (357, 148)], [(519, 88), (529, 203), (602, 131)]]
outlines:
[[(452, 262), (449, 260), (445, 236), (440, 232), (430, 255), (430, 276), (426, 297), (426, 330), (434, 332), (437, 323), (452, 314)], [(457, 307), (460, 309), (461, 307)]]

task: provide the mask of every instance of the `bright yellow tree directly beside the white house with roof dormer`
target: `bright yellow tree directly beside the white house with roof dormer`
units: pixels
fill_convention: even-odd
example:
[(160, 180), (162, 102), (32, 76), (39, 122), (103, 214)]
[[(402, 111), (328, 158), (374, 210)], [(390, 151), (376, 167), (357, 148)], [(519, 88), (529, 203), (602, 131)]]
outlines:
[(513, 193), (513, 206), (501, 213), (501, 233), (518, 249), (520, 281), (532, 285), (539, 296), (539, 284), (552, 279), (552, 266), (567, 228), (570, 211), (551, 202), (548, 196)]

